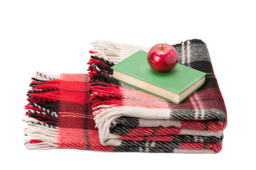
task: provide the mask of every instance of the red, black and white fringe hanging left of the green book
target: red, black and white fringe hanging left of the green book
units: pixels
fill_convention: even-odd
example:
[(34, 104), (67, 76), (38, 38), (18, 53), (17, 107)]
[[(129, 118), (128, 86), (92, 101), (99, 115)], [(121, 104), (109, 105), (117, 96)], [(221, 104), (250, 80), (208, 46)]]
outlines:
[(110, 69), (114, 63), (101, 57), (92, 56), (88, 64), (90, 64), (91, 104), (96, 127), (110, 130), (111, 122), (124, 113), (122, 108), (118, 107), (122, 106), (120, 83), (112, 77), (112, 69)]

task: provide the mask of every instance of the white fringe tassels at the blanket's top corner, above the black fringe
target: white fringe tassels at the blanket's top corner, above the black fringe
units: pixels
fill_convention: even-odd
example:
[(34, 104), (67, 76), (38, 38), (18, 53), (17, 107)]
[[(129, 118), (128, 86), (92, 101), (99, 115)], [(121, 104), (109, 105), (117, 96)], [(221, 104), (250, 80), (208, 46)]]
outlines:
[(95, 56), (102, 57), (110, 62), (117, 64), (120, 62), (122, 56), (121, 45), (111, 41), (98, 41), (92, 42), (93, 52)]

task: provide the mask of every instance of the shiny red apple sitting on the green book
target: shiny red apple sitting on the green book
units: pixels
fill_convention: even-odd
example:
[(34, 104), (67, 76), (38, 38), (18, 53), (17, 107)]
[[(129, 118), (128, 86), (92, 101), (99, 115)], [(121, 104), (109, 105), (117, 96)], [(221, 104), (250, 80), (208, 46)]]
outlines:
[(147, 59), (156, 72), (169, 72), (177, 64), (178, 54), (173, 46), (160, 43), (151, 47)]

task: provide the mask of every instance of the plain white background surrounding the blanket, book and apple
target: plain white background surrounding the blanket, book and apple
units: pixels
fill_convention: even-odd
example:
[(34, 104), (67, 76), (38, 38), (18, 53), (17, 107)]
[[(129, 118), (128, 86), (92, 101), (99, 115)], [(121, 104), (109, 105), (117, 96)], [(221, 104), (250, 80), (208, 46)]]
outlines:
[[(255, 169), (253, 1), (0, 1), (0, 169)], [(23, 146), (31, 75), (85, 73), (90, 42), (206, 42), (228, 109), (219, 154), (148, 154)]]

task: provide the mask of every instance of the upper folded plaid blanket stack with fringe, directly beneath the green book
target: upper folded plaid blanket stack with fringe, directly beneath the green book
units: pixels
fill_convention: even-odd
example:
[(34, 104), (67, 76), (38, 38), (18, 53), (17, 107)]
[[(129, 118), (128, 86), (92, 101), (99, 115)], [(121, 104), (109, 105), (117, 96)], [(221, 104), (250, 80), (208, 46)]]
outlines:
[(90, 93), (102, 145), (131, 152), (220, 152), (225, 104), (204, 42), (174, 45), (179, 63), (208, 74), (206, 84), (178, 105), (112, 78), (114, 63), (149, 48), (114, 42), (95, 42), (94, 47)]

